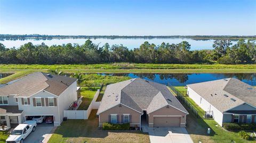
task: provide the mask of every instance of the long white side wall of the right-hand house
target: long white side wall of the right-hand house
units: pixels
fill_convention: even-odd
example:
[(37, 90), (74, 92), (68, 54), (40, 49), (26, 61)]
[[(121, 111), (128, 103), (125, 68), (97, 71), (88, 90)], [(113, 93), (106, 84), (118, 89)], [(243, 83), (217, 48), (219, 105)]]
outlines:
[[(201, 96), (198, 95), (193, 89), (188, 87), (188, 96), (194, 100), (194, 102), (201, 107), (204, 111), (212, 111), (213, 119), (222, 126), (223, 114), (217, 110), (214, 106), (212, 106), (209, 102), (207, 102), (203, 97), (201, 100)], [(201, 102), (200, 102), (201, 100)]]

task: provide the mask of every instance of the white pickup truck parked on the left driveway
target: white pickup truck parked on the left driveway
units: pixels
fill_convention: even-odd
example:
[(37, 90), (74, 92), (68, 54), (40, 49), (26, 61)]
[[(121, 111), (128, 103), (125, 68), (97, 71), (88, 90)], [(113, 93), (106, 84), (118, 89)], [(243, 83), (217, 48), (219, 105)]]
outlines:
[(29, 133), (36, 130), (36, 121), (25, 121), (19, 124), (6, 139), (6, 143), (23, 143)]

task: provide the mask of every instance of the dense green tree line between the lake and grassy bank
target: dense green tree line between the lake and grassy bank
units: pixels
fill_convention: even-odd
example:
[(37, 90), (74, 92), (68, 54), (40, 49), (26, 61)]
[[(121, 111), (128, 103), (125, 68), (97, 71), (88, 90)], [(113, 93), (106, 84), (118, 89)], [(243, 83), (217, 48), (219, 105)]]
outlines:
[(96, 64), (96, 63), (256, 63), (254, 41), (240, 39), (232, 45), (230, 39), (217, 39), (212, 50), (190, 51), (190, 44), (150, 44), (128, 49), (121, 45), (103, 46), (86, 40), (83, 45), (63, 44), (47, 46), (27, 43), (19, 48), (6, 48), (0, 43), (0, 64)]

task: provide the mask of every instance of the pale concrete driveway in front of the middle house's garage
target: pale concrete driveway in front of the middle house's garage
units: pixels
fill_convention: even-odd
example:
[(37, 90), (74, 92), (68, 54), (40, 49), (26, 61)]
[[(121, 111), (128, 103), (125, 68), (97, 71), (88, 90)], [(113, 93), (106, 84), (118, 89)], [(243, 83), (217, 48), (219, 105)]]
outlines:
[(193, 143), (185, 128), (148, 128), (151, 143)]

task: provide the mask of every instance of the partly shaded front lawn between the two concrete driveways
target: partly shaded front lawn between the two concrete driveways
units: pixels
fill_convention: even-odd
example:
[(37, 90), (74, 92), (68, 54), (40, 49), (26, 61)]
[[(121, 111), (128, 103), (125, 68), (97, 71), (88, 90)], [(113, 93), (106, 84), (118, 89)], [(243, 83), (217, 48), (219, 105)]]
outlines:
[(150, 142), (141, 131), (98, 131), (97, 110), (92, 110), (88, 120), (67, 120), (55, 130), (48, 143), (80, 142)]

